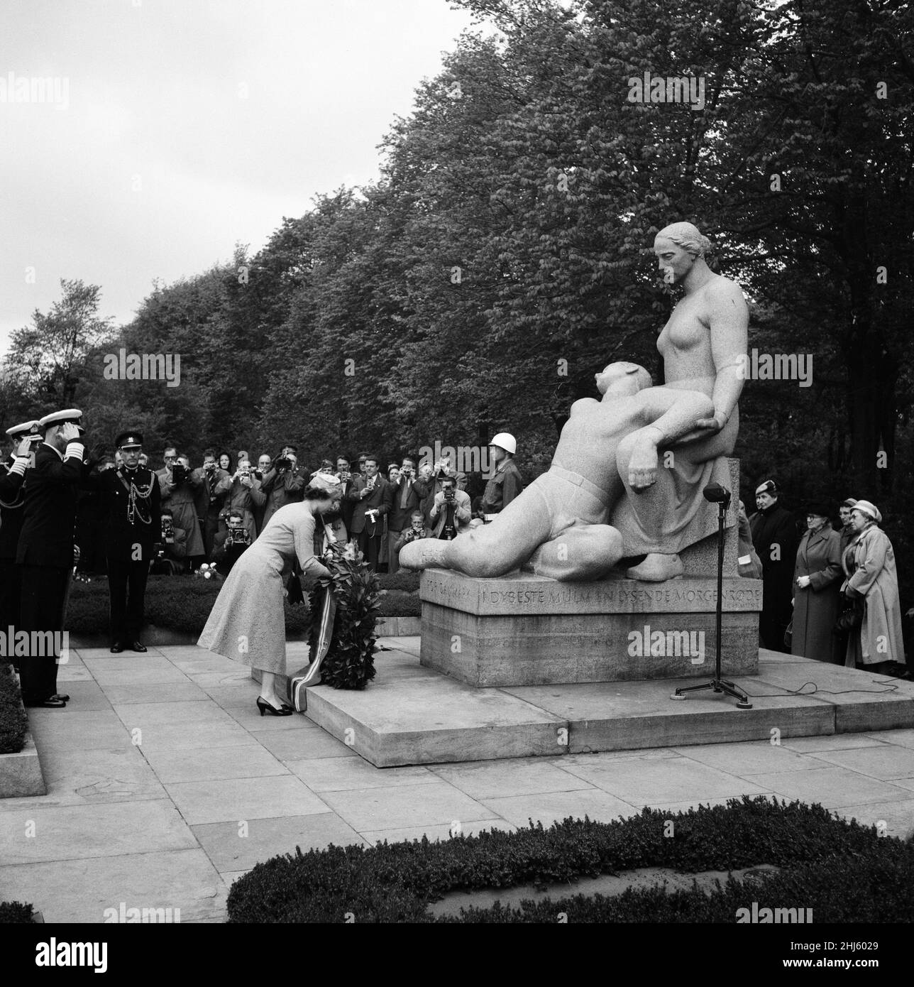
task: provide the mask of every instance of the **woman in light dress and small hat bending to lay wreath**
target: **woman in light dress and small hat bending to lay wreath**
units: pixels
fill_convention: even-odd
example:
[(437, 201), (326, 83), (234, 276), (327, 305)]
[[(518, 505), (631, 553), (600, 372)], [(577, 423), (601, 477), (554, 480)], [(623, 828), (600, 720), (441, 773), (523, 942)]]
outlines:
[(295, 712), (274, 689), (276, 676), (286, 672), (284, 586), (296, 560), (308, 575), (330, 574), (315, 556), (315, 528), (324, 511), (338, 507), (340, 495), (336, 477), (317, 473), (304, 500), (285, 504), (270, 517), (223, 583), (197, 641), (200, 647), (260, 669), (261, 717)]

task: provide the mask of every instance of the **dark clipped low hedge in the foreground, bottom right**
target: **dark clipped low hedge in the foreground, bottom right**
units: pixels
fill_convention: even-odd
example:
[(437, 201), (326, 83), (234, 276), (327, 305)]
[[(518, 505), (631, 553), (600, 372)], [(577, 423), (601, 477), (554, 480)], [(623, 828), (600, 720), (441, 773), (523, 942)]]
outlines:
[[(668, 837), (670, 819), (674, 835)], [(563, 898), (567, 907), (561, 908), (549, 902), (521, 909), (473, 909), (457, 921), (554, 922), (559, 911), (567, 912), (571, 921), (574, 911), (576, 921), (611, 914), (593, 920), (691, 922), (710, 921), (713, 915), (714, 921), (734, 922), (734, 901), (751, 904), (769, 889), (776, 907), (791, 907), (796, 899), (804, 908), (819, 910), (816, 921), (827, 921), (829, 908), (840, 911), (851, 882), (857, 920), (866, 920), (879, 907), (881, 921), (909, 921), (900, 916), (912, 914), (911, 854), (902, 841), (879, 838), (875, 827), (838, 819), (821, 805), (746, 796), (726, 806), (674, 815), (646, 808), (608, 823), (569, 818), (548, 829), (531, 824), (517, 832), (484, 832), (445, 842), (423, 838), (368, 848), (331, 846), (307, 854), (296, 848), (295, 855), (258, 864), (232, 885), (229, 921), (344, 922), (350, 912), (357, 922), (431, 922), (428, 904), (452, 890), (525, 883), (544, 887), (644, 867), (696, 873), (761, 864), (788, 872), (777, 875), (779, 884), (763, 887), (753, 883), (740, 889), (731, 881), (712, 893), (711, 904), (701, 891), (648, 889), (605, 900), (596, 895)], [(847, 877), (852, 872), (854, 877)], [(816, 905), (811, 903), (813, 891)]]

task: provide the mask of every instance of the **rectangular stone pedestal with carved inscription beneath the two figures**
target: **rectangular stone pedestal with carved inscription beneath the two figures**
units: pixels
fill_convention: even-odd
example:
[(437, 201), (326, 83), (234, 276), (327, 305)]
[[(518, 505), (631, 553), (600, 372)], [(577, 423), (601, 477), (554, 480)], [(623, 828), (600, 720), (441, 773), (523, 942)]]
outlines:
[[(717, 580), (478, 579), (426, 569), (423, 665), (477, 687), (615, 682), (712, 674)], [(762, 583), (724, 577), (723, 670), (758, 669)]]

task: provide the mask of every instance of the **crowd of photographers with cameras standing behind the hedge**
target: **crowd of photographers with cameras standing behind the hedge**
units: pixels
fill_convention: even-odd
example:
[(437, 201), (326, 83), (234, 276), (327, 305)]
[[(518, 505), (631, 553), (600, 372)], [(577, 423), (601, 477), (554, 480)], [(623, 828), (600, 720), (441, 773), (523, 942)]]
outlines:
[[(507, 505), (523, 489), (507, 448), (492, 446), (498, 483), (470, 502), (467, 478), (457, 472), (447, 453), (434, 464), (417, 465), (405, 456), (385, 462), (372, 452), (355, 460), (338, 456), (322, 460), (315, 471), (303, 468), (294, 445), (276, 456), (252, 460), (246, 450), (230, 454), (206, 449), (202, 465), (174, 447), (164, 450), (163, 464), (140, 465), (155, 472), (161, 493), (161, 538), (154, 547), (153, 574), (182, 574), (214, 566), (225, 575), (253, 543), (275, 511), (301, 500), (317, 472), (338, 475), (344, 485), (339, 510), (324, 517), (337, 541), (355, 541), (372, 569), (395, 572), (400, 548), (415, 538), (454, 538)], [(104, 456), (97, 469), (120, 465), (118, 450)], [(81, 548), (78, 569), (105, 572), (105, 506), (98, 493), (83, 491), (77, 514), (76, 541)]]

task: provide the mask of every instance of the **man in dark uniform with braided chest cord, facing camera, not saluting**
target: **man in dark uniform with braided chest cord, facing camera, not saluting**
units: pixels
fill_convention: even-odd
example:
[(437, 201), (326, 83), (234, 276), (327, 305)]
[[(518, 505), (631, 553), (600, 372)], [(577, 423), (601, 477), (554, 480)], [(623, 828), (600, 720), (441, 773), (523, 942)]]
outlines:
[(111, 651), (145, 651), (140, 642), (146, 580), (162, 533), (162, 493), (152, 470), (140, 466), (143, 436), (135, 429), (114, 440), (122, 466), (91, 478), (105, 505), (105, 558), (111, 599)]

